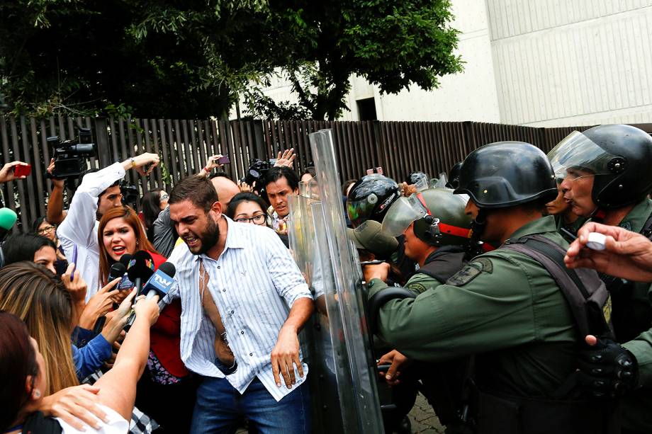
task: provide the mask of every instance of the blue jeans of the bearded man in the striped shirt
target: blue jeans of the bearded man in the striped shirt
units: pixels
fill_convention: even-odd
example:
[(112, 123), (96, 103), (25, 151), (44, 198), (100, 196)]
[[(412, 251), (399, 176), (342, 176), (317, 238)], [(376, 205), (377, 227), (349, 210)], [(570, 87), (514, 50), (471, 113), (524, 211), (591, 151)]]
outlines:
[(258, 378), (241, 395), (225, 378), (203, 377), (191, 434), (235, 433), (241, 416), (261, 434), (310, 433), (308, 382), (276, 402)]

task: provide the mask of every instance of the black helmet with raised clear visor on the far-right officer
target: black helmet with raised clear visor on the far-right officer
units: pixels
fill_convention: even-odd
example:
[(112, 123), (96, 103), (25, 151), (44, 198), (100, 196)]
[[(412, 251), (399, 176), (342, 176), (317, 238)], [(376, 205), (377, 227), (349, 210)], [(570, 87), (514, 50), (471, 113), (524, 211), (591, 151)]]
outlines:
[(548, 157), (560, 178), (576, 178), (572, 169), (594, 176), (591, 197), (603, 210), (639, 202), (652, 190), (652, 137), (631, 125), (573, 131)]

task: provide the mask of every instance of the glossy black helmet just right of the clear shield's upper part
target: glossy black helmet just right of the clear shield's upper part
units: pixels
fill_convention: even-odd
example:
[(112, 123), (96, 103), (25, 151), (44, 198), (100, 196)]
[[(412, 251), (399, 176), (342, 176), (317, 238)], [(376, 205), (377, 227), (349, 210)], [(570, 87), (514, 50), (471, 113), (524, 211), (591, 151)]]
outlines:
[(366, 220), (383, 222), (389, 206), (400, 197), (398, 184), (379, 173), (363, 176), (347, 196), (347, 213), (353, 227)]

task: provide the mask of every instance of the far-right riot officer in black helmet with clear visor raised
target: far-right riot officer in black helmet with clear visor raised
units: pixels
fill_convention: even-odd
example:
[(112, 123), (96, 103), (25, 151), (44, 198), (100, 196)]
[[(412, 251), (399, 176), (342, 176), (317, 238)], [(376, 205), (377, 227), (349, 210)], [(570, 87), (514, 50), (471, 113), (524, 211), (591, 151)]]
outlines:
[[(600, 125), (574, 131), (548, 154), (561, 188), (575, 214), (593, 222), (652, 236), (652, 137), (631, 125)], [(601, 275), (612, 297), (616, 338), (638, 360), (641, 388), (623, 401), (623, 428), (628, 433), (652, 430), (652, 288)], [(612, 348), (611, 351), (614, 349)], [(602, 379), (604, 383), (606, 379)], [(621, 378), (614, 383), (622, 389)]]

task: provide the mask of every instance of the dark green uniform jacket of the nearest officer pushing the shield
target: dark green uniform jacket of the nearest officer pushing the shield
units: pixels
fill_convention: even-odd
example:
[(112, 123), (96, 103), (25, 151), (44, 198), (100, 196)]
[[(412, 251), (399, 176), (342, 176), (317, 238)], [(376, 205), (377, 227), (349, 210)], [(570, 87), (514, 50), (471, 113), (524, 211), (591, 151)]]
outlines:
[[(551, 216), (511, 238), (530, 234), (568, 246)], [(426, 290), (416, 299), (390, 300), (378, 321), (378, 335), (408, 357), (440, 362), (476, 354), (479, 386), (512, 396), (551, 396), (573, 372), (578, 336), (570, 307), (529, 256), (498, 249), (477, 256), (444, 285), (411, 283)], [(386, 287), (371, 280), (368, 296)]]

